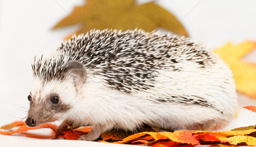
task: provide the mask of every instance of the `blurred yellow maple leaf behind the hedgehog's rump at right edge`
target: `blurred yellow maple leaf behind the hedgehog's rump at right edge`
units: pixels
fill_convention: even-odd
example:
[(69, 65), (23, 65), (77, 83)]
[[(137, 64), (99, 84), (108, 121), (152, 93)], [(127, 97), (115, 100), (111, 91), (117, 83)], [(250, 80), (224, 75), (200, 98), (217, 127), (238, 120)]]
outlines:
[(237, 90), (253, 98), (256, 98), (256, 64), (244, 62), (241, 58), (255, 47), (256, 42), (245, 41), (237, 46), (227, 43), (214, 50), (233, 71)]

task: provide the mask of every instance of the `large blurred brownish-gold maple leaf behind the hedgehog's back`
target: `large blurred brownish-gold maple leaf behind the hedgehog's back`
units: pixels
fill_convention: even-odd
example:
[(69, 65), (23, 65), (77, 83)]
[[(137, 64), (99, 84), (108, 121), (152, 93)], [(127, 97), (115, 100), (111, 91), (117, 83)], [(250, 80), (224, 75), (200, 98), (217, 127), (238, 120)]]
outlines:
[[(144, 29), (151, 32), (157, 27), (188, 37), (185, 29), (170, 12), (154, 2), (137, 5), (136, 0), (86, 0), (58, 22), (53, 29), (79, 24), (76, 34), (91, 29)], [(69, 36), (70, 37), (70, 36)], [(67, 38), (69, 38), (67, 37)]]

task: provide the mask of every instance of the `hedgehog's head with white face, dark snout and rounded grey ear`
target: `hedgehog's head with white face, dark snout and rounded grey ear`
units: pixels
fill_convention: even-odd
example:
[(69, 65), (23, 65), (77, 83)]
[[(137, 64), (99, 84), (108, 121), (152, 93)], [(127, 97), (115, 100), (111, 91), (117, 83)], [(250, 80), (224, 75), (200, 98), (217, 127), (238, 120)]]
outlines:
[[(80, 66), (83, 70), (71, 70)], [(70, 62), (67, 67), (69, 76), (62, 81), (44, 79), (36, 76), (32, 85), (28, 100), (30, 101), (30, 109), (26, 119), (26, 124), (29, 127), (37, 127), (40, 124), (47, 122), (63, 120), (69, 115), (73, 106), (79, 103), (77, 86), (84, 84), (86, 71), (81, 66), (81, 63)], [(84, 80), (77, 80), (77, 78)]]

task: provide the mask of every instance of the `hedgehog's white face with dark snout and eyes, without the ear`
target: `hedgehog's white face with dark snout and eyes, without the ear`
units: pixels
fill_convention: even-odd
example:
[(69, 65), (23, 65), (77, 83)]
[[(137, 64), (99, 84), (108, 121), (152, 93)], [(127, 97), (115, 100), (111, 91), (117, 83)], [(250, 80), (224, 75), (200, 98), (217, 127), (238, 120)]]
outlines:
[(35, 78), (28, 100), (30, 109), (26, 124), (37, 127), (40, 124), (62, 120), (69, 115), (71, 104), (76, 101), (76, 87), (70, 81), (43, 83)]

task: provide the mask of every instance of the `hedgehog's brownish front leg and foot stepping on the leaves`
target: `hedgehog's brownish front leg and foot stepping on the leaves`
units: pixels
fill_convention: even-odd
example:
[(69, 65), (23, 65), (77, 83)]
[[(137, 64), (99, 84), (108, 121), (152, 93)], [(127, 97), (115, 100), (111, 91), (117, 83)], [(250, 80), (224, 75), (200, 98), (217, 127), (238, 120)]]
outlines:
[(113, 129), (113, 125), (94, 125), (93, 129), (87, 135), (81, 135), (78, 140), (94, 141), (99, 138), (102, 133)]

